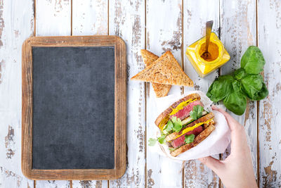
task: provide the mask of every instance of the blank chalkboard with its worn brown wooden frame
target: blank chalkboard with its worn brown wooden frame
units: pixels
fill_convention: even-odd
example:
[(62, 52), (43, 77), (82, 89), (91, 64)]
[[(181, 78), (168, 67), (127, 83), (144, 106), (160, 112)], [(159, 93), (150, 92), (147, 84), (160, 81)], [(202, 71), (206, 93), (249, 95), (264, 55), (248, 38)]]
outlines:
[[(42, 41), (42, 38), (34, 37), (25, 44), (31, 56), (31, 62), (27, 64), (30, 63), (32, 70), (26, 70), (22, 60), (22, 73), (30, 71), (32, 75), (27, 77), (27, 82), (24, 81), (25, 75), (22, 75), (22, 116), (31, 118), (31, 123), (27, 120), (27, 124), (31, 124), (29, 126), (22, 117), (22, 125), (25, 124), (27, 130), (32, 132), (32, 135), (26, 136), (32, 142), (27, 143), (26, 160), (22, 156), (24, 163), (31, 162), (31, 165), (22, 172), (25, 171), (24, 174), (34, 180), (57, 179), (58, 175), (53, 174), (55, 172), (60, 172), (60, 175), (64, 173), (60, 180), (74, 180), (77, 177), (71, 173), (81, 173), (81, 170), (93, 170), (89, 180), (119, 177), (116, 171), (124, 171), (126, 153), (124, 149), (119, 151), (120, 146), (125, 147), (125, 142), (117, 136), (126, 137), (126, 130), (124, 125), (117, 125), (117, 122), (122, 111), (125, 115), (121, 116), (126, 119), (124, 96), (120, 96), (126, 96), (126, 92), (119, 90), (117, 79), (122, 77), (121, 87), (126, 85), (126, 68), (120, 69), (118, 65), (123, 63), (121, 65), (124, 66), (122, 56), (118, 56), (120, 51), (124, 53), (124, 46), (120, 48), (117, 44), (124, 45), (124, 42), (113, 36), (110, 38), (114, 39), (113, 42), (108, 42), (108, 38), (97, 42), (96, 37), (88, 40), (85, 37), (54, 37), (50, 44), (50, 37), (45, 38)], [(80, 39), (84, 45), (77, 44), (75, 39)], [(61, 40), (64, 40), (64, 45)], [(38, 45), (37, 42), (42, 44)], [(30, 78), (32, 82), (29, 82)], [(24, 109), (24, 87), (32, 88), (29, 91), (32, 103), (28, 108), (32, 111), (31, 115), (28, 109)], [(126, 120), (122, 121), (126, 123)], [(120, 161), (120, 157), (124, 159)], [(122, 163), (122, 168), (119, 163)], [(37, 173), (32, 175), (32, 172)], [(86, 171), (82, 171), (80, 180), (89, 177), (85, 174)]]

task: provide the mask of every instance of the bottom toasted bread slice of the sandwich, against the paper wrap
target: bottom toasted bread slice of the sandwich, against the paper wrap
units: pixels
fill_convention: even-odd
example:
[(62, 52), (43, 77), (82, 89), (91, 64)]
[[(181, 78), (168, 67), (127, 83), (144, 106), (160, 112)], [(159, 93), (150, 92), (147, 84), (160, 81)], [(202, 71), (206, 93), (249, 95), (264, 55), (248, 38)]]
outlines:
[(203, 130), (200, 134), (195, 137), (194, 142), (190, 144), (185, 144), (178, 149), (171, 151), (171, 156), (178, 156), (179, 154), (188, 151), (188, 149), (192, 149), (192, 147), (197, 146), (200, 142), (202, 142), (204, 139), (206, 139), (211, 132), (213, 132), (216, 129), (214, 125), (209, 125), (205, 130)]

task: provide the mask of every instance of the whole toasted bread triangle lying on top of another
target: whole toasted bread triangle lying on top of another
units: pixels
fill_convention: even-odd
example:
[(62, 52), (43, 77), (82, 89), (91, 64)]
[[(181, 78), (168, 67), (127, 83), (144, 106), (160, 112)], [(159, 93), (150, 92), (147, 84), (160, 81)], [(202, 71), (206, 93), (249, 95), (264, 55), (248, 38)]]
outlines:
[(193, 87), (192, 80), (184, 73), (171, 51), (166, 51), (147, 68), (131, 77), (131, 80)]

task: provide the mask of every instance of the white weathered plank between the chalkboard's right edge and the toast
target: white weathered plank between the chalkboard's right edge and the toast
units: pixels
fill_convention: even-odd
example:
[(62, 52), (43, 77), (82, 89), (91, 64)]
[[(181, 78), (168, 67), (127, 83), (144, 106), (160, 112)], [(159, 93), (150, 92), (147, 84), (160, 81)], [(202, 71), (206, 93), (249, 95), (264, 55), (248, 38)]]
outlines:
[(145, 87), (129, 80), (143, 70), (140, 50), (145, 47), (145, 1), (109, 1), (109, 33), (126, 42), (127, 51), (127, 170), (110, 187), (145, 187)]

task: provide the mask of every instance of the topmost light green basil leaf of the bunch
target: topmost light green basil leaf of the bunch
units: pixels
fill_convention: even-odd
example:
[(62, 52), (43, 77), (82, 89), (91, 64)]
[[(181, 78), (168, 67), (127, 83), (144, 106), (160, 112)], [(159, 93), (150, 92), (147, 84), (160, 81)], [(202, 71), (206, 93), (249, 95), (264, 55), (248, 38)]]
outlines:
[(266, 61), (263, 58), (263, 54), (256, 46), (249, 46), (241, 58), (241, 67), (248, 74), (257, 75), (261, 73), (264, 64), (266, 64)]

